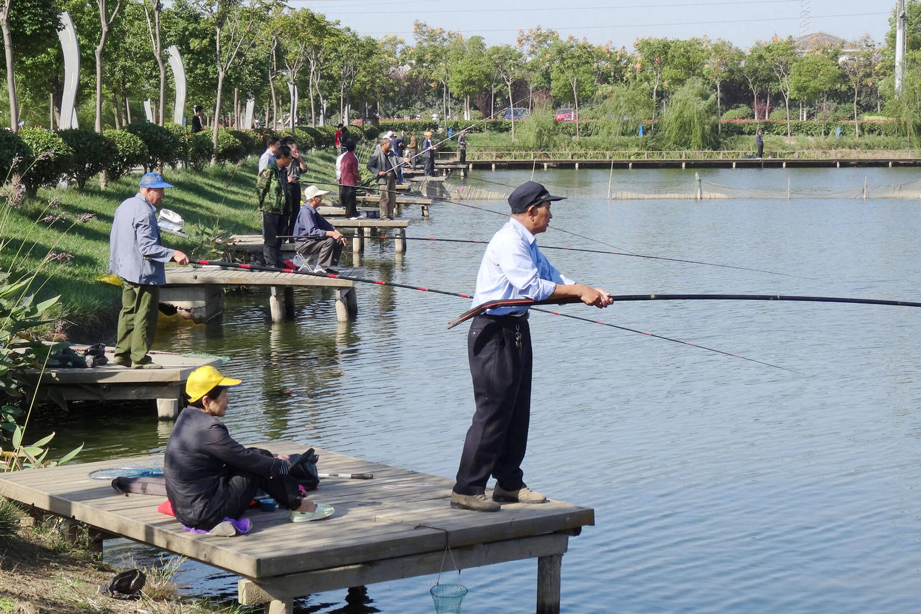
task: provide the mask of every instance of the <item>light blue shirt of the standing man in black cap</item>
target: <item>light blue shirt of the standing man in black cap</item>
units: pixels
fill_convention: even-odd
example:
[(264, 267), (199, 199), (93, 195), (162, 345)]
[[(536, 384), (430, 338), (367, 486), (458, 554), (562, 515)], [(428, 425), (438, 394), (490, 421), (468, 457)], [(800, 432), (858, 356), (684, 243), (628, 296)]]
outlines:
[[(541, 301), (554, 294), (556, 284), (575, 284), (564, 277), (537, 248), (537, 239), (514, 217), (502, 226), (486, 246), (472, 307), (508, 298)], [(528, 307), (487, 309), (491, 316), (520, 316)]]

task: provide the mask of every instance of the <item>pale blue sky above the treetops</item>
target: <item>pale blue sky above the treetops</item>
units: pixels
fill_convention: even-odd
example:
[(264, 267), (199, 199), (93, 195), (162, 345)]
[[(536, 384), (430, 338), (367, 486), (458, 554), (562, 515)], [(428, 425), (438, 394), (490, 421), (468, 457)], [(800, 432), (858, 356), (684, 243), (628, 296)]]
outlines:
[[(413, 21), (479, 34), (487, 45), (514, 43), (519, 29), (537, 25), (628, 50), (642, 36), (729, 39), (740, 47), (773, 35), (799, 36), (801, 0), (287, 0), (379, 38), (413, 38)], [(811, 0), (811, 31), (882, 41), (894, 0)], [(462, 7), (462, 8), (461, 8)]]

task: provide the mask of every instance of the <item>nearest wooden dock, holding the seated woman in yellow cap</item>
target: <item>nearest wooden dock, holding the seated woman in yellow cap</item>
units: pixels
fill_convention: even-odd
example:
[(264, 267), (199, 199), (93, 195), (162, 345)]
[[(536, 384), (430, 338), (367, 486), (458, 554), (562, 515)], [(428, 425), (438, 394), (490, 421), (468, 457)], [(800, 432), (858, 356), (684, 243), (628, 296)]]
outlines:
[[(259, 446), (276, 454), (308, 447), (293, 442)], [(560, 611), (563, 554), (570, 537), (594, 524), (594, 510), (555, 501), (503, 504), (494, 514), (455, 510), (449, 507), (453, 481), (448, 478), (326, 450), (317, 453), (322, 472), (373, 473), (374, 480), (322, 480), (309, 498), (332, 504), (334, 516), (293, 524), (286, 511), (251, 510), (250, 533), (235, 538), (184, 531), (175, 518), (157, 512), (162, 497), (125, 497), (109, 481), (87, 477), (94, 469), (149, 466), (162, 462), (162, 455), (4, 473), (0, 494), (110, 537), (134, 539), (237, 573), (242, 576), (239, 603), (267, 604), (271, 614), (290, 614), (295, 597), (438, 573), (446, 547), (461, 568), (537, 558), (536, 611)], [(428, 597), (420, 590), (419, 598)]]

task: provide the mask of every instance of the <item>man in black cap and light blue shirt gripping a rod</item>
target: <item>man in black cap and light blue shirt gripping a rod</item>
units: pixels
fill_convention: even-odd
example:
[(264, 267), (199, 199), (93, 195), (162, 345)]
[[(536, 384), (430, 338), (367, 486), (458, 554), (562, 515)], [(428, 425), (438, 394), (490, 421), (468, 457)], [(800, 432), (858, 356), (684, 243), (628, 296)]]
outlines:
[[(495, 233), (476, 278), (473, 305), (507, 298), (544, 300), (577, 296), (586, 305), (608, 307), (611, 295), (576, 284), (554, 269), (537, 247), (553, 215), (553, 196), (540, 183), (527, 181), (508, 197), (512, 216)], [(531, 349), (528, 307), (487, 309), (473, 318), (467, 357), (476, 412), (467, 431), (451, 492), (451, 507), (498, 512), (500, 503), (542, 504), (547, 498), (523, 481), (521, 462), (530, 423)], [(486, 481), (495, 477), (492, 500)]]

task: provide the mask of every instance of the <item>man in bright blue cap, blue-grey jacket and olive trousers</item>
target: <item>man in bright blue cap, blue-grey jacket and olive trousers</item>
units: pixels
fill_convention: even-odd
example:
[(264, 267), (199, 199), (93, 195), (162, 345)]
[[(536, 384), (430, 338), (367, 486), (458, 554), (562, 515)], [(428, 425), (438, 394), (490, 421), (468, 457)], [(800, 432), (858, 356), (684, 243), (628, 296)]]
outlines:
[(122, 278), (116, 365), (158, 369), (147, 352), (157, 330), (159, 286), (167, 283), (165, 263), (188, 264), (179, 249), (163, 247), (154, 215), (163, 190), (172, 188), (159, 173), (141, 178), (141, 188), (115, 210), (109, 237), (109, 272)]

